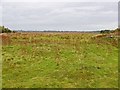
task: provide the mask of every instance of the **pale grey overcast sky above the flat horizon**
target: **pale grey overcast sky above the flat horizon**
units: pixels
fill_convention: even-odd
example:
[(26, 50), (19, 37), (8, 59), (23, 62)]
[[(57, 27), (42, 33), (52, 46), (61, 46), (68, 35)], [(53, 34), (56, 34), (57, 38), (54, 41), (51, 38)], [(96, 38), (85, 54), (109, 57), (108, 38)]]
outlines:
[(2, 24), (13, 30), (115, 29), (118, 3), (4, 2)]

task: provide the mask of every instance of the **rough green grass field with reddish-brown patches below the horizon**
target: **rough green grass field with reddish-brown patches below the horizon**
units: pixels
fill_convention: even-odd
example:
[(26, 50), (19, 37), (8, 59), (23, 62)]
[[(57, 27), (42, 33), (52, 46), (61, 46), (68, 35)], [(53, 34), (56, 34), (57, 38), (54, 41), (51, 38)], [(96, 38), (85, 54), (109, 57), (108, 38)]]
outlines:
[(94, 33), (3, 37), (3, 88), (117, 88), (117, 38)]

